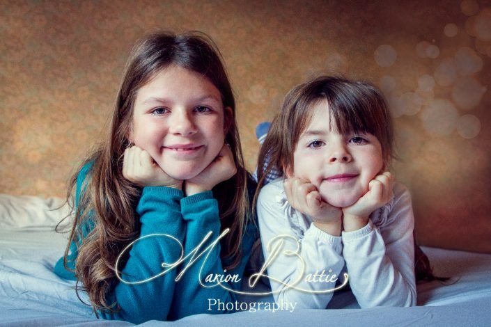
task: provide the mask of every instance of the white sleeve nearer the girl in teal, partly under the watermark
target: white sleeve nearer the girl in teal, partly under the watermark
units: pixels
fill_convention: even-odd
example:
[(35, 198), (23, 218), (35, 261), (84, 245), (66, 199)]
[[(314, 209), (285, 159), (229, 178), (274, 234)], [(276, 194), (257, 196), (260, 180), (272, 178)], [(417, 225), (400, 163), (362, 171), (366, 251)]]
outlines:
[[(257, 207), (265, 262), (271, 260), (267, 274), (274, 300), (279, 303), (296, 302), (298, 308), (325, 309), (334, 291), (322, 291), (336, 287), (336, 279), (331, 277), (336, 275), (340, 282), (344, 282), (344, 276), (338, 276), (344, 266), (341, 237), (327, 234), (313, 223), (303, 235), (294, 232), (292, 215), (299, 213), (288, 204), (283, 193), (279, 185), (267, 184), (260, 191)], [(281, 240), (279, 255), (270, 259), (275, 244)], [(331, 277), (315, 278), (315, 274), (322, 273)]]

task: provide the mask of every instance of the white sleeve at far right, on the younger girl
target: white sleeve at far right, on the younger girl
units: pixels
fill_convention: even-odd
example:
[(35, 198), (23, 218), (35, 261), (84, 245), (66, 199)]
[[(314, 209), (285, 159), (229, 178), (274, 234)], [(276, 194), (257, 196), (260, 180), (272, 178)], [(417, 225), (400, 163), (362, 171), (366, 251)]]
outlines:
[(416, 305), (414, 214), (407, 189), (394, 188), (387, 221), (343, 232), (350, 286), (361, 308)]

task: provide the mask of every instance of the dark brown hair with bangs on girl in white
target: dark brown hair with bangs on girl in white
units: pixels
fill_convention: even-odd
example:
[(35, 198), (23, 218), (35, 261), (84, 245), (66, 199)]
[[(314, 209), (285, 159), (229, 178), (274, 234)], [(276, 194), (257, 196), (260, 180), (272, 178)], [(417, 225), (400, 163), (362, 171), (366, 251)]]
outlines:
[[(322, 76), (290, 90), (279, 115), (274, 118), (263, 146), (260, 148), (258, 190), (272, 171), (285, 173), (293, 168), (293, 153), (300, 135), (309, 125), (313, 106), (327, 100), (331, 127), (341, 134), (366, 132), (373, 134), (382, 145), (382, 157), (387, 166), (393, 155), (393, 127), (382, 93), (364, 81)], [(256, 192), (257, 194), (258, 192)]]

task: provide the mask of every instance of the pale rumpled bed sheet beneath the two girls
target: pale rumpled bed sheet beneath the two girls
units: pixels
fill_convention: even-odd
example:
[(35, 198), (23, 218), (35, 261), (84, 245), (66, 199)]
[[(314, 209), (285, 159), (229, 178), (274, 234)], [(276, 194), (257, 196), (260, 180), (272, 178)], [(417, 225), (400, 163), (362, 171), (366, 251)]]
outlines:
[[(123, 321), (95, 319), (91, 308), (81, 303), (72, 289), (75, 282), (53, 273), (54, 263), (63, 254), (67, 242), (67, 234), (54, 232), (57, 221), (54, 218), (49, 217), (40, 224), (28, 221), (15, 225), (10, 221), (2, 225), (0, 212), (0, 326), (130, 325)], [(424, 307), (346, 309), (357, 305), (352, 295), (344, 292), (333, 298), (334, 308), (343, 308), (339, 310), (198, 314), (180, 321), (149, 321), (144, 325), (298, 326), (329, 321), (329, 324), (350, 326), (359, 323), (361, 317), (364, 323), (378, 321), (382, 326), (397, 323), (448, 326), (449, 319), (453, 323), (491, 321), (488, 310), (491, 308), (491, 255), (439, 248), (423, 247), (423, 250), (435, 267), (435, 273), (451, 276), (454, 282), (452, 285), (436, 281), (418, 285), (418, 305)], [(88, 302), (86, 294), (81, 292), (80, 295)]]

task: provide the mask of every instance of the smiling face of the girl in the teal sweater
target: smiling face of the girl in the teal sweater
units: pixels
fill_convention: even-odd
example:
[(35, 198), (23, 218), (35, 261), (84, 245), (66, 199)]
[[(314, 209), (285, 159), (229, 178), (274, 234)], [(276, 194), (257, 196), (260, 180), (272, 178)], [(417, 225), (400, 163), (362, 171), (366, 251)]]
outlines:
[(231, 115), (207, 78), (171, 65), (138, 90), (130, 140), (167, 175), (189, 180), (217, 157)]

